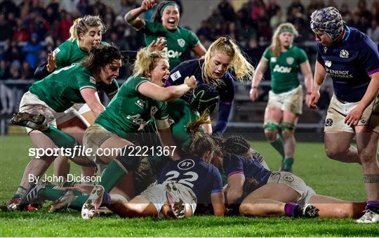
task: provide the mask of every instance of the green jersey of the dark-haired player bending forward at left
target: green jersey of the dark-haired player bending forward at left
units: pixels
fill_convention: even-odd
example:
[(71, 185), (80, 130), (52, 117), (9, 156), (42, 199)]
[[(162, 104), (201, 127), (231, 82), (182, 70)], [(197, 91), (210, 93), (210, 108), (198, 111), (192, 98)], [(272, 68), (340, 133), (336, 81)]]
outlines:
[(97, 90), (96, 79), (83, 65), (69, 65), (36, 81), (29, 91), (55, 112), (64, 112), (74, 103), (86, 103), (80, 93), (84, 88)]

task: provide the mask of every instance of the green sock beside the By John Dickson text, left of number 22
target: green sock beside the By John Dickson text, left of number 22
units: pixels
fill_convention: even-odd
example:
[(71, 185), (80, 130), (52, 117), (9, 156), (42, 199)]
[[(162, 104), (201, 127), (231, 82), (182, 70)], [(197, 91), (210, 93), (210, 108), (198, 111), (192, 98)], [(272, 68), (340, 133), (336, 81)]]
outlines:
[(110, 192), (110, 190), (117, 185), (117, 182), (127, 173), (123, 167), (119, 166), (117, 161), (112, 160), (107, 168), (105, 168), (104, 173), (102, 173), (99, 185), (104, 187), (105, 192)]

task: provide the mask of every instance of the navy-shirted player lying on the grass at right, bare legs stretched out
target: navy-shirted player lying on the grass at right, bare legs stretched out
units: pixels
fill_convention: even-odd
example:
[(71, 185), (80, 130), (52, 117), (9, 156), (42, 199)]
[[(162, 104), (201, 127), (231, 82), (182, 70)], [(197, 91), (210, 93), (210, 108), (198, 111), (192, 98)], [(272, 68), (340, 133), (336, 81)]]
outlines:
[(241, 214), (324, 218), (358, 218), (363, 214), (364, 202), (316, 194), (293, 173), (271, 172), (255, 159), (233, 154), (243, 151), (237, 150), (233, 140), (235, 138), (225, 141), (223, 156), (215, 157), (212, 163), (227, 174), (226, 203), (241, 203)]

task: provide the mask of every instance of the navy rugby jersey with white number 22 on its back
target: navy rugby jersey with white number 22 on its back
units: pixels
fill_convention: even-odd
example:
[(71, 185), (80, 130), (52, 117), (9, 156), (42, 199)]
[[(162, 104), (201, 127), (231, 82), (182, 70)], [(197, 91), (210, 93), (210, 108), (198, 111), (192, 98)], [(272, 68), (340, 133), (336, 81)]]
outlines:
[(177, 161), (169, 161), (158, 177), (158, 183), (175, 181), (192, 189), (198, 202), (200, 198), (208, 198), (213, 193), (223, 192), (222, 180), (218, 169), (207, 164), (200, 157), (184, 157)]

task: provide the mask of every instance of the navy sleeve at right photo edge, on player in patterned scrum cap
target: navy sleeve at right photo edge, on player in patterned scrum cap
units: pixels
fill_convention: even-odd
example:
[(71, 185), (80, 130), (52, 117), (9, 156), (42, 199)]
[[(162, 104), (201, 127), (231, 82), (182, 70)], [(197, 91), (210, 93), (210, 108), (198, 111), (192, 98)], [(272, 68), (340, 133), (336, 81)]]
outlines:
[(379, 72), (378, 46), (366, 34), (362, 35), (361, 46), (359, 47), (359, 62), (361, 62), (367, 74), (371, 75)]

